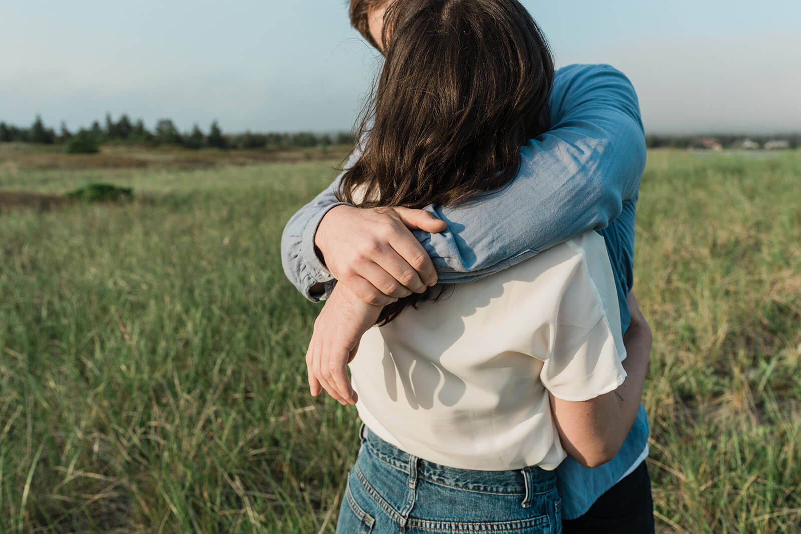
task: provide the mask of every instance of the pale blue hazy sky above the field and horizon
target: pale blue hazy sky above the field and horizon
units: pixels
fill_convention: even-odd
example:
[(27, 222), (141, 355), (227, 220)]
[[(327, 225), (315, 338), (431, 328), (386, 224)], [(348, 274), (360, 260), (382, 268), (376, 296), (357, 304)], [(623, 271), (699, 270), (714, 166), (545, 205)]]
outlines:
[[(650, 132), (801, 130), (801, 2), (523, 0), (557, 66), (629, 75)], [(344, 0), (0, 0), (0, 120), (348, 130), (380, 66)]]

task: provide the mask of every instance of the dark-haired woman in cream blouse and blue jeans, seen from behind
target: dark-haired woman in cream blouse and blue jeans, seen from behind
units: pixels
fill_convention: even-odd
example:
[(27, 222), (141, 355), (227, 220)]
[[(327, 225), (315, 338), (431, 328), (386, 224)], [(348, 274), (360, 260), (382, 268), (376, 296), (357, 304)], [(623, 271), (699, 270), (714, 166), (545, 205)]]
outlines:
[[(515, 0), (418, 0), (384, 21), (373, 126), (342, 200), (447, 205), (507, 184), (548, 126), (553, 65), (529, 14)], [(351, 365), (367, 429), (338, 532), (558, 529), (553, 468), (566, 453), (614, 456), (635, 415), (616, 395), (642, 393), (644, 373), (621, 385), (610, 280), (588, 233), (379, 310)]]

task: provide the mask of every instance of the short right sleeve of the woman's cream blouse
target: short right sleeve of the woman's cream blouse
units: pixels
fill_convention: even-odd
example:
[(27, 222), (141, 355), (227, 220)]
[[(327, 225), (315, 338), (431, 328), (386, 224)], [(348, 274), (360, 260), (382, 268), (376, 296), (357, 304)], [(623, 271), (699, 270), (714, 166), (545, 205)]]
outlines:
[(554, 397), (587, 401), (623, 383), (626, 349), (603, 238), (590, 232), (570, 244), (579, 253), (549, 329), (540, 380)]

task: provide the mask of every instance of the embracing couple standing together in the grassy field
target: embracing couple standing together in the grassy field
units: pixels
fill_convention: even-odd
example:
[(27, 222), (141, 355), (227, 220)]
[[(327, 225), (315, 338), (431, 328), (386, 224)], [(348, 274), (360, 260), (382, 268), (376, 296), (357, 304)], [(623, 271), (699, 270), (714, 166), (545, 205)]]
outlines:
[(384, 55), (376, 94), (282, 239), (326, 301), (312, 395), (363, 422), (337, 532), (653, 532), (630, 82), (554, 72), (517, 0), (350, 16)]

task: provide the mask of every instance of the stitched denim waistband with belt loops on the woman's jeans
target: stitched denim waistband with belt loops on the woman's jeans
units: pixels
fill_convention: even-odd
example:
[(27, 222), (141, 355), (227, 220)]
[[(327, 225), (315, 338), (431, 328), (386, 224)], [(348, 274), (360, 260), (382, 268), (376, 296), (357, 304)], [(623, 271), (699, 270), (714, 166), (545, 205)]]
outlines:
[(545, 471), (536, 465), (509, 471), (453, 468), (402, 451), (376, 436), (364, 424), (361, 425), (360, 437), (368, 452), (385, 464), (406, 473), (410, 472), (411, 465), (414, 464), (418, 478), (438, 484), (475, 491), (529, 495), (549, 492), (556, 487), (556, 472)]

